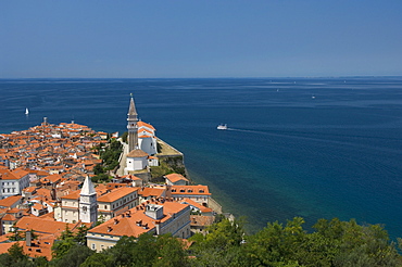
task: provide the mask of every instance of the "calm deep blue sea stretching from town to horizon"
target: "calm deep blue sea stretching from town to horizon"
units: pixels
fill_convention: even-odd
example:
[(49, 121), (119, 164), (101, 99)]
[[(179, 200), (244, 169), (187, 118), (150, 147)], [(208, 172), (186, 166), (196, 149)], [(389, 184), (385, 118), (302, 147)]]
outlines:
[(2, 79), (0, 132), (45, 116), (123, 132), (130, 92), (191, 178), (250, 229), (339, 217), (402, 237), (402, 77)]

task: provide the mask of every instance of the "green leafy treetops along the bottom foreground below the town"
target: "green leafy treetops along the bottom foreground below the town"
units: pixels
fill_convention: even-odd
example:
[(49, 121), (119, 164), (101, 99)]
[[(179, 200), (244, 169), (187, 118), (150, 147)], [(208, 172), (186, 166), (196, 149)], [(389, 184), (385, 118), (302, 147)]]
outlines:
[(397, 244), (379, 225), (319, 219), (315, 230), (306, 232), (303, 224), (300, 217), (286, 225), (268, 223), (248, 236), (241, 220), (221, 219), (208, 234), (194, 234), (190, 242), (145, 233), (138, 239), (123, 237), (100, 253), (84, 244), (85, 232), (66, 229), (53, 245), (51, 262), (29, 259), (13, 245), (0, 255), (0, 266), (402, 266)]

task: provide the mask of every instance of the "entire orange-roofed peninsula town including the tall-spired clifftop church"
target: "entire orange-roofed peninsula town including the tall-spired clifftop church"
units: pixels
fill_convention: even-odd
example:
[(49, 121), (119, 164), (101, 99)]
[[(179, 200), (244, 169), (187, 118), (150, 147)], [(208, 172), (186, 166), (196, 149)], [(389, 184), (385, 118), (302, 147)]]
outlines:
[[(121, 137), (47, 117), (0, 135), (0, 233), (34, 231), (37, 239), (26, 234), (24, 252), (50, 260), (65, 229), (88, 229), (87, 246), (98, 252), (124, 236), (203, 232), (222, 207), (208, 186), (192, 185), (183, 153), (155, 131), (138, 119), (131, 96)], [(13, 242), (18, 239), (0, 243), (0, 253)]]

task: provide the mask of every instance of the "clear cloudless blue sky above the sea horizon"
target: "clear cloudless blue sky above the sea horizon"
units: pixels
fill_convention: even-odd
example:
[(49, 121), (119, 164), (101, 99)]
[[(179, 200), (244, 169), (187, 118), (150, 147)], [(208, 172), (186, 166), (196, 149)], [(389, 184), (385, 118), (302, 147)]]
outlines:
[(0, 0), (0, 78), (402, 75), (401, 0)]

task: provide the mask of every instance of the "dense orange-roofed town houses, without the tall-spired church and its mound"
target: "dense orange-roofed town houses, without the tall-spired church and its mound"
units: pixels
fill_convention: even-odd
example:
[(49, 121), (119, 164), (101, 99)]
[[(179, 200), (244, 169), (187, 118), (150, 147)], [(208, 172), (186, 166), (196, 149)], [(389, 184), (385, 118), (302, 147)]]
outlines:
[(75, 123), (45, 120), (0, 135), (0, 253), (18, 243), (29, 256), (51, 259), (66, 229), (89, 229), (88, 247), (102, 251), (123, 236), (186, 239), (213, 223), (208, 187), (189, 186), (178, 174), (150, 185), (111, 173), (111, 182), (93, 185), (93, 167), (102, 164), (99, 149), (108, 144), (108, 134)]

